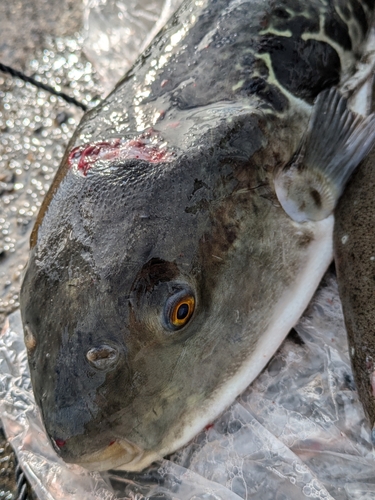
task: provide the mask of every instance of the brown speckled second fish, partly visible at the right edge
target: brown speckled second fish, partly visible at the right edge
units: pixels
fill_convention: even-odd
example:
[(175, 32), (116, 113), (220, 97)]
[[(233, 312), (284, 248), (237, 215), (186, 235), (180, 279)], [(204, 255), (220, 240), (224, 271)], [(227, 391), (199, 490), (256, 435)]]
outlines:
[(340, 298), (360, 400), (375, 424), (375, 150), (353, 175), (337, 207), (334, 233)]

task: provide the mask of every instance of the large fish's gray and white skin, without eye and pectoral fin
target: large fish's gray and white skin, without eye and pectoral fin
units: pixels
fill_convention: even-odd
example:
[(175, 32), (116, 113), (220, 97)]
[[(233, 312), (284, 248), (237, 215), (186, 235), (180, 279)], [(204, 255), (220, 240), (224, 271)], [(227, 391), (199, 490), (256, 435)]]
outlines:
[[(21, 291), (35, 398), (66, 461), (139, 470), (184, 445), (298, 320), (333, 216), (292, 220), (274, 173), (317, 95), (355, 70), (372, 10), (187, 2), (84, 116)], [(195, 308), (171, 328), (181, 294)]]

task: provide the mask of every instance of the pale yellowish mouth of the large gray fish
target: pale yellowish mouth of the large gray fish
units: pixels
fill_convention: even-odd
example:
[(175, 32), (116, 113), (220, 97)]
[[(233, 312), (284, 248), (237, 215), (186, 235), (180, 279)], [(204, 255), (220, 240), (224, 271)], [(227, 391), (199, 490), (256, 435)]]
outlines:
[(69, 462), (80, 465), (89, 471), (105, 471), (120, 465), (138, 470), (137, 464), (142, 461), (144, 455), (145, 451), (136, 444), (126, 440), (118, 440), (99, 451), (81, 456), (79, 460), (73, 459)]

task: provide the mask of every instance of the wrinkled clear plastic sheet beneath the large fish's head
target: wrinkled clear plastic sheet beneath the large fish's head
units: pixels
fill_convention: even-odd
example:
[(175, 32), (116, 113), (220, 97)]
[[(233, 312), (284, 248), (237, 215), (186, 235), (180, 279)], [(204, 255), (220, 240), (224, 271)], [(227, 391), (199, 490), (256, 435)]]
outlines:
[(67, 465), (45, 435), (19, 312), (0, 337), (0, 413), (41, 500), (375, 499), (375, 453), (355, 391), (337, 285), (325, 278), (255, 382), (209, 429), (141, 473)]

